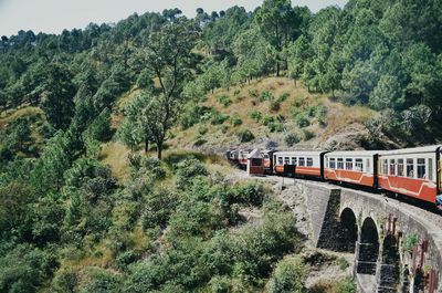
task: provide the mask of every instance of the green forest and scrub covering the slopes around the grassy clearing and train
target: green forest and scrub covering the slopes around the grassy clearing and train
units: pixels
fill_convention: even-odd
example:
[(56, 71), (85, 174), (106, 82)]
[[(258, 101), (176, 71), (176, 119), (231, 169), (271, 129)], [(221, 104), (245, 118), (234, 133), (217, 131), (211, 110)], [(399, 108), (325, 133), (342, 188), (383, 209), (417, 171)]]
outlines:
[[(168, 142), (223, 123), (208, 94), (269, 76), (376, 111), (368, 146), (441, 142), (442, 1), (293, 4), (1, 36), (0, 291), (308, 292), (296, 219), (269, 186), (231, 182), (209, 166), (220, 158), (166, 154)], [(130, 150), (124, 179), (101, 160), (110, 140)]]

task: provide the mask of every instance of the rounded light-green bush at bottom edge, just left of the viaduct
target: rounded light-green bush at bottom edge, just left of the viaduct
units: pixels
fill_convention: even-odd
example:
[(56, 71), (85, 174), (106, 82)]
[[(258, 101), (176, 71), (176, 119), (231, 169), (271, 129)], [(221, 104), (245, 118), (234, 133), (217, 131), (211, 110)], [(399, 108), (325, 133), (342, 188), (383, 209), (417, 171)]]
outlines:
[(269, 281), (269, 292), (305, 292), (307, 268), (298, 257), (286, 257), (277, 263)]

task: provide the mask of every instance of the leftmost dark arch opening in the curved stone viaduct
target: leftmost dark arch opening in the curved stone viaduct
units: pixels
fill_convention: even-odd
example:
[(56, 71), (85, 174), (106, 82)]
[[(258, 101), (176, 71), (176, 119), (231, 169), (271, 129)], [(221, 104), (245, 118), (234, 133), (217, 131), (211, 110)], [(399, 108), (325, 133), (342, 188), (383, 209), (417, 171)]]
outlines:
[(340, 213), (339, 244), (340, 251), (355, 252), (358, 241), (358, 226), (355, 212), (350, 208), (345, 208)]

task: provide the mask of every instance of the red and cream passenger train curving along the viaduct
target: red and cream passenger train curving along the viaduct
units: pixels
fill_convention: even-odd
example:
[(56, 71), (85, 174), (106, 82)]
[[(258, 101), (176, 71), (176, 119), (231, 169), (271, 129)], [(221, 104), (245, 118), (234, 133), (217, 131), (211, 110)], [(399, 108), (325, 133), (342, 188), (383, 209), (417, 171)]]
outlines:
[(251, 174), (320, 179), (430, 202), (442, 210), (442, 146), (397, 150), (230, 150), (232, 164)]

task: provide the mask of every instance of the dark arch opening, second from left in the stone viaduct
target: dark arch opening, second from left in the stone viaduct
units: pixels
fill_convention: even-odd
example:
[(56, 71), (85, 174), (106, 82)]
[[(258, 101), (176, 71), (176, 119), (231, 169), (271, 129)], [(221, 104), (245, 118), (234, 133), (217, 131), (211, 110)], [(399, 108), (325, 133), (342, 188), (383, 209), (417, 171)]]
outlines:
[(362, 222), (356, 257), (358, 273), (376, 274), (379, 257), (379, 234), (376, 222), (370, 217), (366, 218)]

